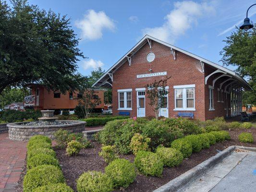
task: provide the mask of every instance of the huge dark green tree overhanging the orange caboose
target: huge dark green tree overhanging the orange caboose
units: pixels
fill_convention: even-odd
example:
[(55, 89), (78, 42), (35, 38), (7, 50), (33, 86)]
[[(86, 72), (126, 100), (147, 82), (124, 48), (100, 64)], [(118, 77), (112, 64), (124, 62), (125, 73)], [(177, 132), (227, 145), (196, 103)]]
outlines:
[(65, 93), (85, 78), (76, 62), (84, 58), (70, 19), (29, 5), (0, 0), (0, 93), (7, 86), (44, 84)]

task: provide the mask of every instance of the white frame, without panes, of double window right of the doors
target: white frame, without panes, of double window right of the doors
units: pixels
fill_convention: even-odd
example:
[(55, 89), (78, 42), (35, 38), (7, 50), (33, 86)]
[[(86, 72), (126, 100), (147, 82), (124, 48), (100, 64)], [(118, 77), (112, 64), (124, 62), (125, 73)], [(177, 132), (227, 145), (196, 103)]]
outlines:
[[(174, 85), (174, 111), (195, 111), (195, 84)], [(194, 108), (187, 108), (187, 89), (194, 88)], [(183, 89), (183, 108), (176, 107), (176, 89)]]

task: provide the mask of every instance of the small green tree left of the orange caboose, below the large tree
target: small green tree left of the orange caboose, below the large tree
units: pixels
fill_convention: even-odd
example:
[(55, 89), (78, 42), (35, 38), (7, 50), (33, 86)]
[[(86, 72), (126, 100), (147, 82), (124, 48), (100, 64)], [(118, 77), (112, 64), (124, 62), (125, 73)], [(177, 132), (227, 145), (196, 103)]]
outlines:
[(6, 87), (0, 95), (0, 108), (14, 102), (23, 102), (24, 97), (28, 94), (29, 91), (26, 88)]

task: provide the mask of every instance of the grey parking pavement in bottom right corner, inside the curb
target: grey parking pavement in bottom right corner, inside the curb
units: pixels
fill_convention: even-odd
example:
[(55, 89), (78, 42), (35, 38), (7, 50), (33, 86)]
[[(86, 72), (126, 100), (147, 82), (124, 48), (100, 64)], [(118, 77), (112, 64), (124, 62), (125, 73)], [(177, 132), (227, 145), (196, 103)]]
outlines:
[(253, 152), (232, 152), (179, 192), (253, 192), (256, 186), (255, 159)]

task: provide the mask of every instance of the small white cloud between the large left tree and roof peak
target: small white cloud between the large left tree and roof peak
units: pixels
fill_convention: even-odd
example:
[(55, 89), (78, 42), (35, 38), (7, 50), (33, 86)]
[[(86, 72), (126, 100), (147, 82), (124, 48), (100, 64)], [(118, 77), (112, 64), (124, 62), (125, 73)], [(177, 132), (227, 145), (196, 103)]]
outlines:
[(115, 24), (105, 12), (88, 10), (82, 20), (75, 21), (75, 26), (82, 30), (81, 38), (96, 40), (102, 37), (104, 29), (114, 30)]

